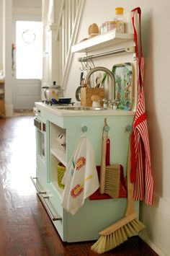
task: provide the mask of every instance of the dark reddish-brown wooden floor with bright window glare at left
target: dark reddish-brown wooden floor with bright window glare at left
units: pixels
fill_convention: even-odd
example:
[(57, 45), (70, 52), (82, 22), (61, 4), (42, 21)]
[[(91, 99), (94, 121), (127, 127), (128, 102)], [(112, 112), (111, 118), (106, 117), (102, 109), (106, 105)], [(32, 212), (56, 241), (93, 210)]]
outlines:
[[(94, 242), (63, 243), (40, 203), (30, 176), (35, 176), (33, 116), (0, 119), (0, 255), (97, 255)], [(141, 239), (103, 255), (156, 255)]]

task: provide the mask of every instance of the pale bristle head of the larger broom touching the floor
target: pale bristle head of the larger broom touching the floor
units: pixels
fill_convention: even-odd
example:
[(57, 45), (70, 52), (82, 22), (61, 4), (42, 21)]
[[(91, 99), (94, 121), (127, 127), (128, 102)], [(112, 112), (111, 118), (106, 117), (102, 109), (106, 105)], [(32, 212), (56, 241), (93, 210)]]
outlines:
[(97, 242), (91, 246), (91, 250), (97, 253), (104, 253), (112, 250), (118, 245), (133, 237), (135, 234), (145, 228), (145, 225), (138, 219), (133, 219), (128, 224), (121, 226), (120, 229), (113, 231), (108, 235), (102, 235)]

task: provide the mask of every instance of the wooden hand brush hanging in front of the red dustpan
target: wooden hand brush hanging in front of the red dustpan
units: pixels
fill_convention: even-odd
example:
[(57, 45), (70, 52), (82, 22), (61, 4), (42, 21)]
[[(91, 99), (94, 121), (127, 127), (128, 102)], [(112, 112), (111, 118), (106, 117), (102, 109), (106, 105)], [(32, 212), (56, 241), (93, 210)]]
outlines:
[(100, 169), (99, 193), (107, 193), (112, 198), (118, 198), (120, 190), (120, 164), (106, 166), (106, 151), (109, 126), (107, 118), (104, 118), (104, 128), (102, 133), (102, 161)]

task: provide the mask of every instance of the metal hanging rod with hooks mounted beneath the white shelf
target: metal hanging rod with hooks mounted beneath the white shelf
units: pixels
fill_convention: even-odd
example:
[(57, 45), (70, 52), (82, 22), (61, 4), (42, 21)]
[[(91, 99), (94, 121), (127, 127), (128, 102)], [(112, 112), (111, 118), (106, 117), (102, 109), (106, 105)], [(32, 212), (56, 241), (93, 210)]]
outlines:
[(135, 53), (135, 46), (120, 48), (120, 49), (111, 50), (111, 51), (108, 51), (108, 52), (105, 52), (105, 53), (98, 53), (98, 54), (95, 54), (95, 55), (78, 58), (78, 61), (84, 62), (84, 61), (88, 61), (91, 58), (100, 58), (100, 57), (109, 56), (109, 55), (117, 54), (117, 53)]

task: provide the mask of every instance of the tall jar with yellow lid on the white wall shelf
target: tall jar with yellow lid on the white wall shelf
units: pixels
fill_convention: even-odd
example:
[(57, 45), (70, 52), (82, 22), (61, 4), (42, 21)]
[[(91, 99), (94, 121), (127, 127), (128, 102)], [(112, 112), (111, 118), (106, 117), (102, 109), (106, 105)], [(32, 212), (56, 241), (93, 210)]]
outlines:
[(115, 19), (116, 22), (116, 32), (124, 33), (125, 32), (125, 22), (123, 17), (124, 8), (116, 7), (115, 8)]

